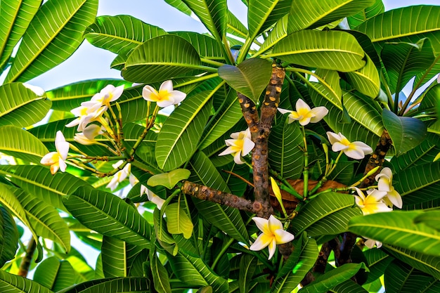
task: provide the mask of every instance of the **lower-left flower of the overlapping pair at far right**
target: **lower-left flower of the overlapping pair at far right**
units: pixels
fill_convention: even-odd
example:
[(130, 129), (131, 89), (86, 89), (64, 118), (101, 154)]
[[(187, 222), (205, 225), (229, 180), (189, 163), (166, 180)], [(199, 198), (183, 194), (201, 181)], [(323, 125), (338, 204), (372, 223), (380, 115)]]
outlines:
[(367, 190), (367, 196), (365, 196), (359, 188), (354, 187), (358, 195), (354, 195), (356, 204), (362, 210), (364, 215), (375, 214), (380, 211), (392, 211), (387, 207), (383, 198), (387, 193), (385, 191), (379, 191), (377, 189)]

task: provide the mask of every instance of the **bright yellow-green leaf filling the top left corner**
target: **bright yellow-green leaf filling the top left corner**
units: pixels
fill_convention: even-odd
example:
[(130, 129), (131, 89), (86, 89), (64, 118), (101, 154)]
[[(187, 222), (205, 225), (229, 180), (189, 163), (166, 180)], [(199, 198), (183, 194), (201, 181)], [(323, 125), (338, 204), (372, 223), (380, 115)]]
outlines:
[(25, 33), (42, 0), (2, 1), (0, 9), (0, 68), (11, 57), (13, 48)]

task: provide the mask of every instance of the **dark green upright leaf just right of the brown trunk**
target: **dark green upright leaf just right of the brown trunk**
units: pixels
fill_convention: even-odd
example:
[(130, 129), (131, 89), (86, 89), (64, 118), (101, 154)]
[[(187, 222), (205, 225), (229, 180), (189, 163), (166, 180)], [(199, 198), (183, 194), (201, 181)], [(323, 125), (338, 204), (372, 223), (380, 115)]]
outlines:
[(304, 140), (297, 123), (288, 124), (287, 115), (271, 129), (268, 138), (268, 163), (283, 178), (297, 179), (302, 174)]

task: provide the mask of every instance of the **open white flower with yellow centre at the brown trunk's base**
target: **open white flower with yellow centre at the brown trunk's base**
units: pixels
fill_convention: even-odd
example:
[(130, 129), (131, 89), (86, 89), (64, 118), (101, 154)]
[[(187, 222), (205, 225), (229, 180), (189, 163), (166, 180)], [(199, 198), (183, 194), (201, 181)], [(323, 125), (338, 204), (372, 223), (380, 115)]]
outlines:
[(268, 246), (269, 257), (271, 259), (275, 254), (276, 245), (284, 244), (294, 240), (295, 236), (283, 229), (283, 223), (273, 215), (268, 220), (254, 216), (252, 218), (261, 233), (257, 240), (249, 247), (250, 250), (261, 250)]

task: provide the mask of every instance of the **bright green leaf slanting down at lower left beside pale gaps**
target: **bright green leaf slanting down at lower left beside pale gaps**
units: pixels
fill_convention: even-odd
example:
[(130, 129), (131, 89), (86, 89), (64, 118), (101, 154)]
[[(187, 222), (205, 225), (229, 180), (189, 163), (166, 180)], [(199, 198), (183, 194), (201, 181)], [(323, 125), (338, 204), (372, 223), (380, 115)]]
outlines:
[(70, 251), (70, 231), (58, 211), (44, 200), (18, 188), (12, 189), (15, 197), (26, 211), (26, 217), (37, 235), (56, 242)]

